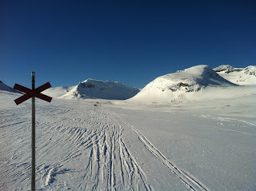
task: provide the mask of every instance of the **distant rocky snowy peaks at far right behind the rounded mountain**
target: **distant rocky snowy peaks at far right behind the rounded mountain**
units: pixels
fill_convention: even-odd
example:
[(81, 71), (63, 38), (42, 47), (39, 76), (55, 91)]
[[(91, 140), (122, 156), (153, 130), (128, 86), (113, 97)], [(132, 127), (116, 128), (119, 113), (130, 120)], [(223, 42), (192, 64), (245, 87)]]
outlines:
[(222, 65), (214, 68), (222, 78), (238, 85), (256, 84), (256, 66), (247, 66), (246, 68), (234, 68), (230, 65)]

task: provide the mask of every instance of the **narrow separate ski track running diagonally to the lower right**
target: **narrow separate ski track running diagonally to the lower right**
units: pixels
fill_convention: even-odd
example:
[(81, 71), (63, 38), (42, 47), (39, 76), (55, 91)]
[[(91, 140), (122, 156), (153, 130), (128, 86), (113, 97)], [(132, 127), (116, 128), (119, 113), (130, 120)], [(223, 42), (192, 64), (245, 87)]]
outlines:
[(195, 177), (193, 177), (190, 173), (186, 172), (183, 169), (178, 168), (178, 166), (174, 165), (173, 162), (169, 161), (138, 129), (135, 129), (133, 125), (130, 125), (127, 121), (123, 120), (122, 117), (118, 116), (118, 114), (114, 113), (124, 124), (130, 127), (137, 135), (142, 144), (145, 145), (146, 149), (150, 151), (157, 157), (162, 164), (166, 165), (172, 173), (175, 174), (183, 183), (186, 184), (191, 190), (210, 190), (203, 185), (202, 182), (198, 181)]

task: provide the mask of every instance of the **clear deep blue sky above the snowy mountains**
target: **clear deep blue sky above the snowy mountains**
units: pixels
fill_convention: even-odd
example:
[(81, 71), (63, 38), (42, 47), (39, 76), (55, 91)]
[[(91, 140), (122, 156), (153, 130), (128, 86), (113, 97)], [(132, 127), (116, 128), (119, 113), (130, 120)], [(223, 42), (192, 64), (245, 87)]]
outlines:
[(0, 80), (142, 88), (206, 64), (256, 65), (255, 1), (0, 1)]

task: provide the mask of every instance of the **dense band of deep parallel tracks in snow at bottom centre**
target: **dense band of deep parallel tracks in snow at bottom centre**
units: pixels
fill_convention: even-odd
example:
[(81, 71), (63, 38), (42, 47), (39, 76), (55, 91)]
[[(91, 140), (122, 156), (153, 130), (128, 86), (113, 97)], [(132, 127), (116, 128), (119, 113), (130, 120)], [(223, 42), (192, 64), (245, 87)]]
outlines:
[(98, 128), (81, 142), (83, 149), (89, 150), (90, 158), (79, 189), (154, 190), (122, 140), (122, 126), (105, 109), (97, 114), (91, 122), (98, 124)]

